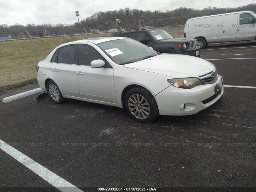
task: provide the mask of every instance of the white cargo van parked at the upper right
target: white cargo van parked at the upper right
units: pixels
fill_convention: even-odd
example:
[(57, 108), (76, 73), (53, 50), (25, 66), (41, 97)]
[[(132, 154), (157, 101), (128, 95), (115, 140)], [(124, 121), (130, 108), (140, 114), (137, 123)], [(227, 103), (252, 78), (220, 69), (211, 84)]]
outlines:
[(256, 14), (240, 11), (188, 19), (184, 38), (197, 39), (204, 48), (208, 43), (256, 40)]

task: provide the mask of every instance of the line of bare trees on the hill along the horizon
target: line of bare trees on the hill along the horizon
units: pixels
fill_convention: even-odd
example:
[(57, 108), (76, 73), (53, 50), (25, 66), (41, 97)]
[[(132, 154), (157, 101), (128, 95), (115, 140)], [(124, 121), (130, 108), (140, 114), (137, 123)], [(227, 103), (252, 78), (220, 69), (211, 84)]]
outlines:
[[(237, 11), (250, 10), (256, 12), (256, 4), (248, 4), (237, 8), (216, 8), (208, 7), (202, 10), (194, 8), (180, 7), (175, 10), (165, 12), (155, 10), (138, 10), (129, 7), (119, 10), (96, 12), (92, 16), (70, 25), (64, 24), (27, 24), (26, 26), (15, 24), (13, 26), (0, 26), (0, 37), (11, 36), (11, 38), (27, 38), (26, 31), (32, 37), (58, 36), (79, 34), (80, 32), (106, 32), (113, 29), (134, 29), (140, 27), (164, 27), (183, 25), (186, 20), (194, 17), (223, 14)], [(81, 31), (80, 31), (81, 29)]]

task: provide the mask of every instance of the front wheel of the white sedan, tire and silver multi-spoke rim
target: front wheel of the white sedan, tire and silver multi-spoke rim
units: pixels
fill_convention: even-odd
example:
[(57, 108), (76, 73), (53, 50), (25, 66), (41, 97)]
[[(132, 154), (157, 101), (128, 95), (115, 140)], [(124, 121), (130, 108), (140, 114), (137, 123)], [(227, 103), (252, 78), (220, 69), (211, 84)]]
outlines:
[(138, 122), (149, 123), (159, 116), (156, 100), (145, 88), (130, 89), (124, 103), (128, 114)]

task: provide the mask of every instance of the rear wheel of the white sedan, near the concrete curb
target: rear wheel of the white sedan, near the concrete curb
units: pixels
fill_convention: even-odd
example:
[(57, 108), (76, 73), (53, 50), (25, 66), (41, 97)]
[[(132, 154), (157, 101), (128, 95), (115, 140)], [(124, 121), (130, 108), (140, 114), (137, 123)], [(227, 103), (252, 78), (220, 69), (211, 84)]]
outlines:
[(50, 80), (48, 82), (47, 92), (50, 95), (50, 98), (53, 102), (60, 104), (64, 101), (64, 98), (60, 92), (60, 88), (53, 80)]

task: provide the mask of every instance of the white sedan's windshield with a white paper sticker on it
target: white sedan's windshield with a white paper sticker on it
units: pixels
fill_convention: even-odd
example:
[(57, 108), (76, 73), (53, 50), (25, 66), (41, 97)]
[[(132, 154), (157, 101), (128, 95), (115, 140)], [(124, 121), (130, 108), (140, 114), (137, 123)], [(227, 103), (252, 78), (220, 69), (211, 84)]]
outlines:
[(97, 44), (116, 64), (128, 64), (158, 55), (148, 46), (132, 40), (117, 39)]

